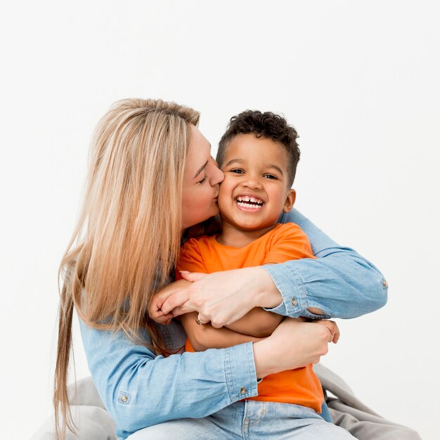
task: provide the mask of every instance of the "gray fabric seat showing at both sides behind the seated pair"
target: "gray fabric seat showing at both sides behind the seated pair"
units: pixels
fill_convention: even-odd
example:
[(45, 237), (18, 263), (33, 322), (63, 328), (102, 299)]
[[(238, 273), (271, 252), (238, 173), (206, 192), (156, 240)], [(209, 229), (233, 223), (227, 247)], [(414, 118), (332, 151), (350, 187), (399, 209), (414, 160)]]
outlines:
[[(421, 440), (413, 429), (385, 420), (365, 406), (341, 377), (318, 364), (314, 366), (325, 390), (334, 397), (327, 403), (335, 425), (347, 429), (358, 440)], [(77, 435), (67, 431), (66, 440), (115, 440), (115, 422), (104, 408), (91, 377), (71, 384), (69, 399)], [(53, 418), (44, 422), (30, 440), (55, 440)]]

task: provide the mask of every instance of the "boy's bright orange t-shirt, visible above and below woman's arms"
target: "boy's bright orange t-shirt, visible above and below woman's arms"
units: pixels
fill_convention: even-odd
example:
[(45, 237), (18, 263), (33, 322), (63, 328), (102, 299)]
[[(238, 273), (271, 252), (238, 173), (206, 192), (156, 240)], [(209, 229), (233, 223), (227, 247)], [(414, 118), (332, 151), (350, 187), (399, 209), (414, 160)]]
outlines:
[[(191, 238), (181, 248), (176, 273), (212, 273), (300, 258), (315, 258), (306, 234), (296, 224), (276, 224), (271, 231), (245, 247), (221, 245), (214, 235)], [(186, 351), (194, 351), (189, 339)], [(321, 382), (309, 364), (264, 377), (258, 384), (258, 396), (250, 399), (295, 403), (321, 413), (324, 396)]]

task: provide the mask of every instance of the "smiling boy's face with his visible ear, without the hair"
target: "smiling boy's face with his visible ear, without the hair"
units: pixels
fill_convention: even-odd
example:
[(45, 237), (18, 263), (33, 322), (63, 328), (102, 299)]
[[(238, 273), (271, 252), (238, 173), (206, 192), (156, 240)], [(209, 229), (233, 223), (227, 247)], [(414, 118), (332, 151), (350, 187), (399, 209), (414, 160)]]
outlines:
[(273, 226), (295, 203), (295, 190), (287, 188), (287, 151), (269, 138), (235, 136), (226, 146), (221, 171), (221, 219), (237, 229)]

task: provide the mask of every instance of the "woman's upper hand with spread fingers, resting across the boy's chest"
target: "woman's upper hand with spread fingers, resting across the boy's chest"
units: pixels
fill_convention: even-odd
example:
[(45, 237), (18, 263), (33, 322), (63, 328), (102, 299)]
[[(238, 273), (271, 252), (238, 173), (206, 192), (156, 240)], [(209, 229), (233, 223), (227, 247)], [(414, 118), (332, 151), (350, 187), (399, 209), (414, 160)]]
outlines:
[(201, 321), (221, 328), (245, 316), (254, 307), (276, 307), (283, 301), (271, 276), (261, 267), (205, 273), (181, 272), (193, 281), (161, 304), (164, 316), (198, 311)]

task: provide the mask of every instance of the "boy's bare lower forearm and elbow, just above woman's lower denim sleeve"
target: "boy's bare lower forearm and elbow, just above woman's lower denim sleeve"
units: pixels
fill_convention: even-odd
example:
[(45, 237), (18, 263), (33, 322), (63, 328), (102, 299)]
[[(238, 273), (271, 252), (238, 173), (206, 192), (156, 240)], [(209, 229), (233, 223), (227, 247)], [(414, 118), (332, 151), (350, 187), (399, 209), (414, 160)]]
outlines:
[(199, 325), (195, 322), (197, 316), (197, 312), (186, 313), (185, 315), (180, 316), (181, 323), (186, 331), (186, 335), (188, 335), (188, 339), (190, 340), (194, 351), (226, 349), (227, 347), (244, 344), (245, 342), (258, 342), (263, 339), (261, 337), (234, 332), (225, 327), (214, 328), (209, 323)]

